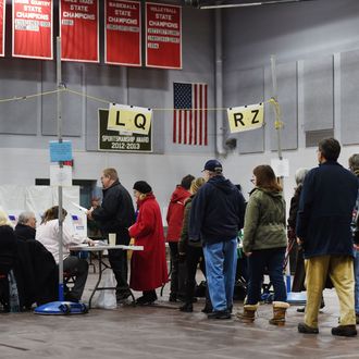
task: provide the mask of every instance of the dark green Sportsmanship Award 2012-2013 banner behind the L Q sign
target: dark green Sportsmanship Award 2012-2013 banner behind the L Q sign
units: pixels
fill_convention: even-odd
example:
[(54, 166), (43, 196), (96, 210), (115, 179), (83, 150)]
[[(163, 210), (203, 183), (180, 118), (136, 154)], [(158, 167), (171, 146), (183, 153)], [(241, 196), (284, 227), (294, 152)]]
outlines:
[[(152, 152), (152, 127), (148, 135), (108, 129), (109, 110), (99, 109), (99, 150), (119, 152)], [(111, 126), (110, 126), (111, 127)]]

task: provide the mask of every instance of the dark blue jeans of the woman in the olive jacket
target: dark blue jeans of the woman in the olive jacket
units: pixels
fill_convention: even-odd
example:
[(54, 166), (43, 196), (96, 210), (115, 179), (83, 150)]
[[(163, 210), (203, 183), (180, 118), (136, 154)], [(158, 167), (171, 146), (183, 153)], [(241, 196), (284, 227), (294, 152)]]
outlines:
[(285, 248), (253, 250), (248, 257), (248, 305), (256, 305), (261, 299), (261, 287), (265, 269), (274, 288), (274, 300), (286, 301), (287, 293), (283, 277)]

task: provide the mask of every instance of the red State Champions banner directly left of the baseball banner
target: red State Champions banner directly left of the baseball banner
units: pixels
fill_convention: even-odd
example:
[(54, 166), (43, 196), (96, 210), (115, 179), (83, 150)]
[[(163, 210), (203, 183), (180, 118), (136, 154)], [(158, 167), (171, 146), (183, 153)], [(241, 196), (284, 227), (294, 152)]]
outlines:
[(98, 0), (60, 0), (61, 60), (99, 62)]

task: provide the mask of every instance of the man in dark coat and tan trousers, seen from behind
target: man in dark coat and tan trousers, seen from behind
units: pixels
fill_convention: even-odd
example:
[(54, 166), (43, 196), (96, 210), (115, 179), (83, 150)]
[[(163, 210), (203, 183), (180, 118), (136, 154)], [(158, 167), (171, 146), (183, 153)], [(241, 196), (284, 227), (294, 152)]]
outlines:
[(306, 259), (307, 306), (300, 333), (317, 334), (322, 290), (329, 274), (341, 305), (341, 322), (333, 335), (355, 336), (352, 238), (350, 222), (358, 193), (357, 177), (337, 158), (334, 138), (319, 143), (319, 166), (306, 176), (299, 200), (296, 233)]

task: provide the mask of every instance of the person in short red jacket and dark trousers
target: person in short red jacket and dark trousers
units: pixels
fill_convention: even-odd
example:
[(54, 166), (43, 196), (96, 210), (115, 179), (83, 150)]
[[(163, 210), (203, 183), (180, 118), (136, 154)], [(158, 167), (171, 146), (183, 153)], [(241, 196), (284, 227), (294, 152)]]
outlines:
[[(171, 256), (171, 292), (170, 301), (176, 301), (182, 297), (184, 299), (184, 277), (185, 273), (180, 273), (181, 263), (178, 262), (178, 242), (181, 237), (185, 202), (189, 198), (189, 187), (195, 177), (187, 174), (182, 178), (181, 185), (177, 185), (170, 200), (166, 214), (168, 233), (166, 240), (170, 246)], [(185, 272), (185, 271), (181, 271)]]

